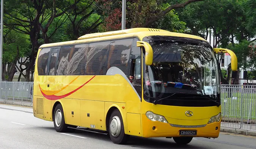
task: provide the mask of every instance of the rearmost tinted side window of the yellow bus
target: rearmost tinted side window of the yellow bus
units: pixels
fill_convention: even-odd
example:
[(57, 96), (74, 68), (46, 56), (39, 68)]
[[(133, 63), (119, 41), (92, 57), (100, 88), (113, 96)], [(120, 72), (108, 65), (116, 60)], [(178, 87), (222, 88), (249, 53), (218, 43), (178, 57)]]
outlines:
[(38, 75), (46, 75), (50, 48), (44, 48), (38, 55)]

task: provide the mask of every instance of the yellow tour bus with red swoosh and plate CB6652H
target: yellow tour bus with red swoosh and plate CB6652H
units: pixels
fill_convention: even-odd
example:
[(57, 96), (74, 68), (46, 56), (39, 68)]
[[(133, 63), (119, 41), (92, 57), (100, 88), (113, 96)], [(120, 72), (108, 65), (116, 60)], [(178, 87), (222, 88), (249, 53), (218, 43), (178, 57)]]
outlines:
[(57, 132), (108, 134), (115, 144), (130, 135), (218, 138), (220, 70), (216, 54), (237, 57), (201, 37), (133, 28), (86, 34), (44, 44), (36, 57), (33, 113)]

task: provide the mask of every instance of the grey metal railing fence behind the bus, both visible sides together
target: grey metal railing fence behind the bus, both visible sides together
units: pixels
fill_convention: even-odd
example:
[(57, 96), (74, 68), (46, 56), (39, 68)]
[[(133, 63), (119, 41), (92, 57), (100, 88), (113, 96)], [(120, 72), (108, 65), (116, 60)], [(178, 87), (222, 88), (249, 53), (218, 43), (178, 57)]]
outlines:
[[(0, 100), (32, 105), (33, 82), (0, 82)], [(256, 85), (221, 84), (221, 103), (221, 127), (256, 131)]]

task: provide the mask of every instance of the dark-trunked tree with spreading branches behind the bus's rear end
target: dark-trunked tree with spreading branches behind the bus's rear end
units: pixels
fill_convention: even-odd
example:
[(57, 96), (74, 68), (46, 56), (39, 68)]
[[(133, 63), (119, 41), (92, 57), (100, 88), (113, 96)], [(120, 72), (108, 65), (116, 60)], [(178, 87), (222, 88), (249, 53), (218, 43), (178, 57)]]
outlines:
[[(25, 78), (27, 81), (30, 81), (30, 72), (34, 70), (35, 58), (39, 46), (43, 43), (49, 43), (49, 37), (52, 37), (52, 35), (47, 34), (50, 25), (52, 22), (58, 24), (58, 20), (62, 19), (65, 12), (73, 9), (80, 1), (81, 0), (64, 2), (58, 0), (5, 1), (5, 25), (16, 32), (29, 35), (30, 37), (30, 54), (26, 61), (21, 63), (26, 64)], [(65, 19), (60, 22), (60, 24), (56, 25), (55, 31), (63, 25), (64, 22)], [(55, 33), (55, 31), (52, 33)]]

